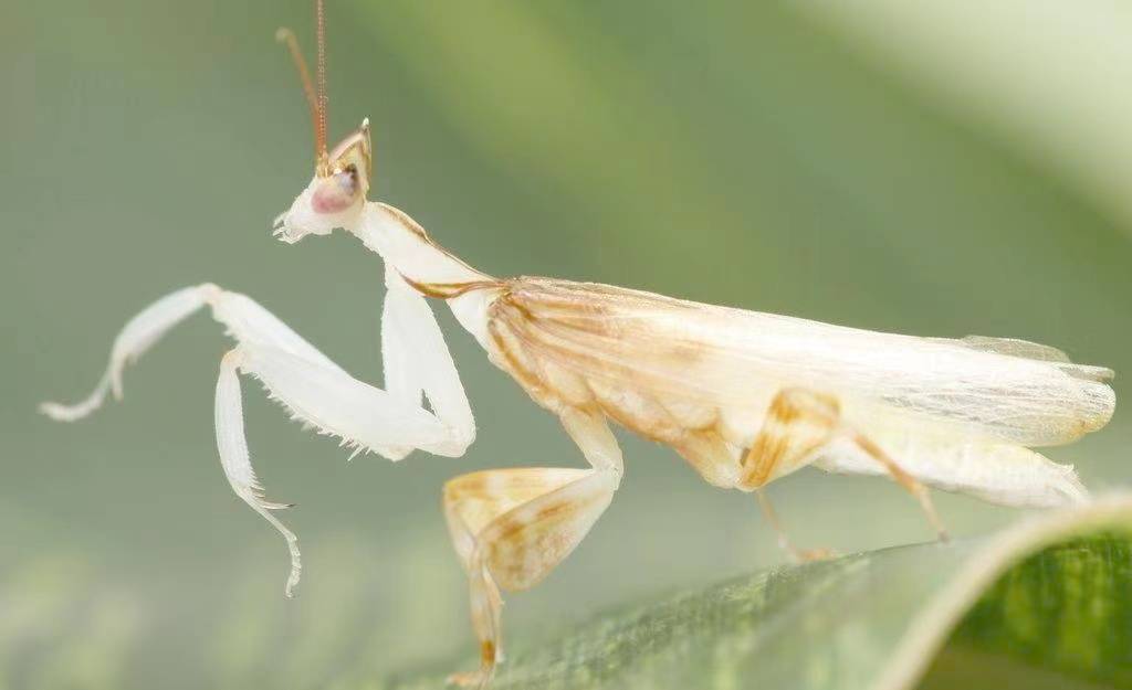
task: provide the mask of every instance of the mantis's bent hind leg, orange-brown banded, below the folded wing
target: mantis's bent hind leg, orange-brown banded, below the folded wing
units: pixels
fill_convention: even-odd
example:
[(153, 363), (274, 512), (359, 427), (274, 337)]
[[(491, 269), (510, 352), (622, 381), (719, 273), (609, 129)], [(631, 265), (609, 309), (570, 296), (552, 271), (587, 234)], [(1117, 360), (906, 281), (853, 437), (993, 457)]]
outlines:
[[(842, 439), (856, 445), (884, 467), (919, 501), (940, 538), (947, 538), (927, 488), (872, 439), (849, 426), (841, 415), (838, 399), (821, 393), (786, 388), (774, 396), (758, 434), (743, 458), (739, 489), (757, 491), (775, 478), (813, 463), (823, 449)], [(765, 497), (760, 500), (765, 501)]]

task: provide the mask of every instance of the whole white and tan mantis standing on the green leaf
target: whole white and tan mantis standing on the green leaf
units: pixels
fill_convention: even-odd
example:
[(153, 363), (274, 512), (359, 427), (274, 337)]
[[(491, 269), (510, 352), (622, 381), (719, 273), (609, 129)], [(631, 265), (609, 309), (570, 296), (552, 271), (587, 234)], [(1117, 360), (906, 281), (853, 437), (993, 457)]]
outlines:
[[(496, 278), (472, 268), (403, 212), (368, 192), (368, 121), (327, 148), (325, 14), (316, 0), (317, 85), (293, 34), (315, 131), (315, 174), (274, 224), (286, 243), (341, 228), (385, 264), (385, 389), (354, 379), (250, 297), (205, 284), (135, 317), (86, 400), (45, 404), (50, 416), (89, 414), (121, 395), (121, 372), (173, 325), (208, 305), (237, 340), (221, 362), (217, 450), (235, 493), (285, 537), (251, 468), (239, 373), (257, 378), (294, 417), (357, 451), (397, 460), (413, 449), (460, 456), (475, 424), (426, 297), (440, 300), (489, 361), (561, 422), (586, 467), (524, 467), (446, 483), (445, 518), (469, 581), (480, 665), (455, 674), (486, 687), (501, 659), (503, 592), (533, 587), (581, 543), (612, 501), (624, 462), (614, 422), (674, 449), (703, 480), (754, 493), (780, 543), (763, 489), (803, 467), (887, 475), (946, 531), (928, 486), (1009, 504), (1080, 502), (1071, 466), (1034, 448), (1071, 442), (1113, 414), (1113, 372), (1024, 340), (914, 337), (701, 304), (612, 285)], [(431, 412), (421, 405), (426, 396)]]

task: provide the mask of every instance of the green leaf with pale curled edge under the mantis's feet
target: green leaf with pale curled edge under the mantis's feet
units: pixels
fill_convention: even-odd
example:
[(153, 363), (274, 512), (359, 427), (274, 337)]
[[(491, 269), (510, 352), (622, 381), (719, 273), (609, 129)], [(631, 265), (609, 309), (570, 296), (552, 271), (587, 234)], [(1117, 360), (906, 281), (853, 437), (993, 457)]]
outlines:
[[(496, 690), (895, 690), (933, 659), (925, 688), (1129, 688), (1132, 497), (990, 537), (778, 568), (557, 635), (512, 630), (509, 642)], [(391, 687), (437, 688), (463, 666)]]

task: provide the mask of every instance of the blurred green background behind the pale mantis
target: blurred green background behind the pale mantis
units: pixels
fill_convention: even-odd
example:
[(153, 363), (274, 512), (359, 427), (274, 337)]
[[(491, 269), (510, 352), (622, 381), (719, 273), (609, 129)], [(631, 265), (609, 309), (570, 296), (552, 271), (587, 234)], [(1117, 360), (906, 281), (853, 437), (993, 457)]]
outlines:
[[(1118, 45), (1104, 9), (1023, 31), (966, 2), (328, 5), (333, 133), (371, 118), (371, 196), (477, 267), (1022, 337), (1132, 371), (1132, 104), (1114, 95), (1132, 54), (1101, 50)], [(0, 7), (0, 688), (355, 688), (471, 653), (441, 484), (582, 462), (447, 313), (480, 428), (462, 459), (346, 464), (246, 385), (260, 477), (299, 504), (288, 602), (283, 544), (216, 459), (215, 324), (130, 370), (123, 404), (70, 426), (35, 414), (89, 390), (129, 316), (203, 281), (379, 381), (379, 259), (269, 238), (311, 173), (280, 25), (311, 51), (306, 0)], [(749, 497), (623, 438), (617, 500), (508, 597), (509, 636), (782, 560)], [(1130, 442), (1118, 411), (1049, 455), (1103, 491), (1132, 478)], [(931, 536), (886, 482), (803, 472), (771, 495), (801, 544)], [(1018, 516), (937, 500), (959, 534)]]

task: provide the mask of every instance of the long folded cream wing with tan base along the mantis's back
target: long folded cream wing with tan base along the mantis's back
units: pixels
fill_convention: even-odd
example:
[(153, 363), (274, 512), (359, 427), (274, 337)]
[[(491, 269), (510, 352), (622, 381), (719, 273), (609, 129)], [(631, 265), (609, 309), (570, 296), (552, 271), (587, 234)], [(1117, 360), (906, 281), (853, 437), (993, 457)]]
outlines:
[(874, 333), (544, 278), (511, 282), (492, 316), (539, 359), (677, 405), (757, 408), (797, 386), (858, 414), (1027, 447), (1099, 429), (1115, 405), (1112, 371), (1024, 340)]

